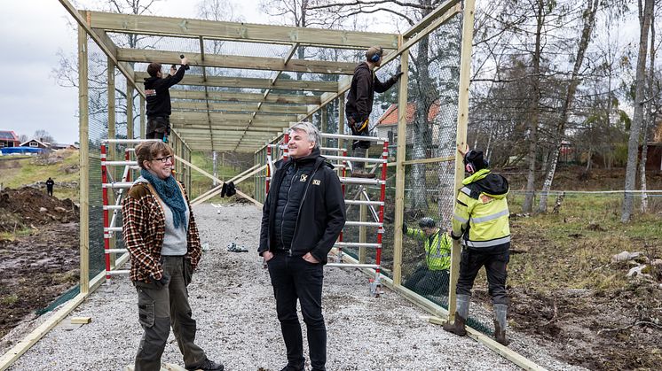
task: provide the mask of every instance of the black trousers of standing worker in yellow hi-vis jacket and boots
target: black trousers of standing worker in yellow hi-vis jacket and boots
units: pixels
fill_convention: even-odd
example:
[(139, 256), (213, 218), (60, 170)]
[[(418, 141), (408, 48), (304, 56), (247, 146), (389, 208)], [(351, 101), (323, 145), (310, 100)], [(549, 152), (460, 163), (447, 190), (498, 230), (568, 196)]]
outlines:
[(509, 260), (509, 251), (487, 254), (469, 251), (464, 247), (460, 259), (460, 276), (457, 280), (455, 293), (470, 296), (476, 275), (480, 268), (485, 266), (488, 291), (492, 297), (492, 303), (508, 305), (506, 278), (508, 276)]

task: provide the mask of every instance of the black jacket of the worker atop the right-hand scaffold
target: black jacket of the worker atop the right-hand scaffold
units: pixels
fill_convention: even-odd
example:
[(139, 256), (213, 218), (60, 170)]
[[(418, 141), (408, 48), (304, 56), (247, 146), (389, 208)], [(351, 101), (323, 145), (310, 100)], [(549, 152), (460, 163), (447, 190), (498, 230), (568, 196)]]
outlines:
[(366, 62), (359, 64), (354, 69), (350, 93), (347, 95), (347, 104), (345, 104), (347, 120), (350, 118), (357, 122), (367, 120), (370, 112), (373, 112), (374, 92), (383, 93), (390, 89), (396, 81), (398, 80), (392, 77), (386, 82), (379, 81), (373, 71), (370, 71)]

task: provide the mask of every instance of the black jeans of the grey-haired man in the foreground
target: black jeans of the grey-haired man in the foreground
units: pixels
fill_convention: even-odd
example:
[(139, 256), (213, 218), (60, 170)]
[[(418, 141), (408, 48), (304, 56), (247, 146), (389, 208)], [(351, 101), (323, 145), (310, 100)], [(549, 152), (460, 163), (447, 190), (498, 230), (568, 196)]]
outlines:
[(267, 262), (272, 278), (276, 313), (280, 321), (285, 347), (288, 351), (288, 367), (303, 370), (303, 336), (299, 317), (296, 315), (296, 299), (301, 304), (303, 321), (308, 330), (313, 370), (325, 370), (327, 363), (327, 327), (322, 315), (322, 264), (312, 264), (300, 256), (277, 253)]

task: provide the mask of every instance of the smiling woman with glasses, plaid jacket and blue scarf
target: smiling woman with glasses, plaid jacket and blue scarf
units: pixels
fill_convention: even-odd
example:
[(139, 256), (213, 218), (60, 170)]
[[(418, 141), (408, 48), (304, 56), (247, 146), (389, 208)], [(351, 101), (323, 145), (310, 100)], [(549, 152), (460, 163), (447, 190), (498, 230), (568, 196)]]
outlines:
[(187, 286), (201, 258), (200, 236), (184, 186), (172, 176), (173, 151), (162, 141), (136, 147), (141, 176), (122, 202), (130, 279), (138, 290), (138, 321), (145, 330), (135, 370), (161, 369), (170, 326), (186, 369), (223, 370), (194, 344)]

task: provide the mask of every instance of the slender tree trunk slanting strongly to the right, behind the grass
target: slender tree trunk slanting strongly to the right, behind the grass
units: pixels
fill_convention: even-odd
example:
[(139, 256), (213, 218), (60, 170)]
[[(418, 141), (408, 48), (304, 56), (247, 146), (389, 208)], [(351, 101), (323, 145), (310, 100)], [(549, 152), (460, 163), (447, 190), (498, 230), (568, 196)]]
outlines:
[(587, 0), (587, 9), (583, 13), (585, 16), (584, 27), (581, 31), (575, 65), (572, 67), (572, 77), (568, 84), (568, 91), (565, 95), (565, 100), (563, 101), (563, 107), (561, 108), (561, 117), (556, 127), (556, 143), (552, 147), (552, 151), (548, 158), (548, 173), (545, 177), (545, 182), (542, 185), (542, 191), (540, 192), (540, 205), (538, 208), (540, 213), (547, 212), (548, 192), (549, 189), (552, 188), (552, 182), (554, 182), (554, 174), (556, 172), (556, 165), (558, 164), (558, 155), (561, 152), (561, 146), (563, 145), (563, 137), (565, 137), (565, 125), (568, 122), (570, 108), (575, 98), (577, 86), (579, 85), (579, 68), (584, 64), (584, 56), (595, 26), (595, 13), (597, 12), (598, 4), (598, 0)]

